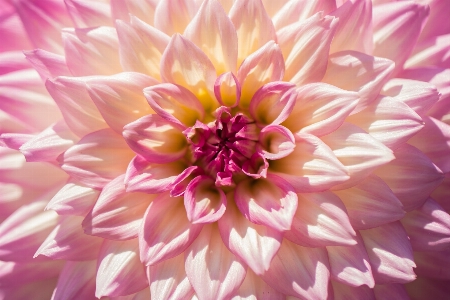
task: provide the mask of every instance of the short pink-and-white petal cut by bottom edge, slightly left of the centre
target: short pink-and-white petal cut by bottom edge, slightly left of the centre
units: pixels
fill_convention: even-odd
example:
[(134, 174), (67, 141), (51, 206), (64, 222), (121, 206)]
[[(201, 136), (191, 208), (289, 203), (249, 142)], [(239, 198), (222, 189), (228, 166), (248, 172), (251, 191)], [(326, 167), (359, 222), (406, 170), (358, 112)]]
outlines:
[(194, 294), (184, 269), (184, 255), (148, 267), (152, 299), (190, 299)]

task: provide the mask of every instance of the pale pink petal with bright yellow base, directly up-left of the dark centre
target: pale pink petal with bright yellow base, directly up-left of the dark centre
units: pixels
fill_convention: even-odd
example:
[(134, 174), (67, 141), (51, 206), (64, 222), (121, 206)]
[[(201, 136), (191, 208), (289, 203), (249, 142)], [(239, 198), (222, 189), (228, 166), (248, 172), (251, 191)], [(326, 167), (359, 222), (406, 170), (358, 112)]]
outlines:
[(194, 43), (179, 34), (174, 35), (161, 58), (161, 78), (190, 90), (199, 98), (205, 110), (213, 110), (216, 71), (214, 65)]

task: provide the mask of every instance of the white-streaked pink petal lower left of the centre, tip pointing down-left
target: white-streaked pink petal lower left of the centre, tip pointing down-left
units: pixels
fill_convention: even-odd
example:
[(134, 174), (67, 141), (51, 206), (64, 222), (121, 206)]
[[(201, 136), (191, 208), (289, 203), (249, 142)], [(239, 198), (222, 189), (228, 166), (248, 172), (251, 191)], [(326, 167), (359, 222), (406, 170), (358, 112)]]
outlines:
[(109, 240), (138, 236), (142, 217), (155, 196), (126, 192), (124, 178), (121, 175), (105, 185), (81, 224), (86, 234)]

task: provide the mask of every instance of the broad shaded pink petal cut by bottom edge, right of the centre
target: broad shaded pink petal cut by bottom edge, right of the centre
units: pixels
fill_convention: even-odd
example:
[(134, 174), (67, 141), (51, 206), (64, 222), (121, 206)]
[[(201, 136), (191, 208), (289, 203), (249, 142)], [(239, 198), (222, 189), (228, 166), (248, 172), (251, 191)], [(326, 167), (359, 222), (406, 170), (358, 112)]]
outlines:
[(301, 247), (284, 239), (261, 278), (278, 292), (302, 299), (327, 299), (330, 271), (325, 248)]

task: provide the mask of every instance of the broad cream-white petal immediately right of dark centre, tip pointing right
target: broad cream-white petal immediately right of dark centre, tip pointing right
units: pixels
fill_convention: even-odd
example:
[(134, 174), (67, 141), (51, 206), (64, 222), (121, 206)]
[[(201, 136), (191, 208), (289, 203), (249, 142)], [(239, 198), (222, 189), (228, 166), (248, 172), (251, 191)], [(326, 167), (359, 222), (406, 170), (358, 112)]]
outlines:
[(318, 137), (298, 133), (294, 151), (270, 163), (269, 173), (287, 180), (296, 193), (322, 192), (348, 180), (347, 170)]

